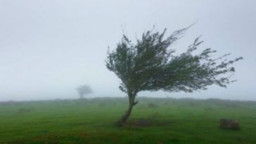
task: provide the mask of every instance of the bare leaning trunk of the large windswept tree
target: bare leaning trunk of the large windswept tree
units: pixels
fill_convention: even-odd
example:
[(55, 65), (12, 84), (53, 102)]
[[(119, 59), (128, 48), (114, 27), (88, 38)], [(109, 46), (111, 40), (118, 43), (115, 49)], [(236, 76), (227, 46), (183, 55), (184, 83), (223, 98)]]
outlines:
[(127, 111), (124, 112), (124, 115), (122, 115), (122, 117), (120, 118), (120, 120), (117, 121), (117, 126), (121, 127), (123, 126), (127, 119), (129, 118), (129, 116), (132, 113), (132, 108), (138, 103), (138, 101), (134, 102), (136, 95), (129, 95), (129, 106)]

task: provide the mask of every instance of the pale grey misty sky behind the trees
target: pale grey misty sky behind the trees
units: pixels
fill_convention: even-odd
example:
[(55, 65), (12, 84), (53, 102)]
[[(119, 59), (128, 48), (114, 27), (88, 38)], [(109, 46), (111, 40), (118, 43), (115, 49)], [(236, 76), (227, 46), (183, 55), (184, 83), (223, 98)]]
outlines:
[(139, 96), (256, 100), (255, 0), (0, 0), (0, 101), (76, 99), (84, 84), (94, 90), (90, 97), (125, 96), (105, 67), (108, 46), (113, 50), (123, 32), (134, 40), (153, 25), (171, 34), (194, 22), (172, 48), (183, 52), (202, 35), (199, 50), (244, 58), (234, 64), (238, 81), (226, 89)]

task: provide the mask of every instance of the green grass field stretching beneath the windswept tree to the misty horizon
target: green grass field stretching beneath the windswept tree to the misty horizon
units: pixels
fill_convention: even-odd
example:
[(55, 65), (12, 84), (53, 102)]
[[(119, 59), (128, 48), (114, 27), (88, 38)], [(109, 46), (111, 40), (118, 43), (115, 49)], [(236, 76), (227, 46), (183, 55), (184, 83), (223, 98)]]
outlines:
[[(0, 143), (256, 143), (256, 102), (139, 98), (124, 127), (127, 99), (0, 103)], [(219, 119), (241, 130), (219, 129)]]

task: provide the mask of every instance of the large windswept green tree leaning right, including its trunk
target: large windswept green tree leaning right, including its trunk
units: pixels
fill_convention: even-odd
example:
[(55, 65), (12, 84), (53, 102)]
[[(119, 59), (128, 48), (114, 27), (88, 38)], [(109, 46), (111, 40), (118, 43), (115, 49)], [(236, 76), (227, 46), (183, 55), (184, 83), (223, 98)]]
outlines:
[(206, 48), (194, 54), (198, 45), (203, 43), (199, 37), (180, 55), (174, 55), (169, 49), (181, 38), (188, 27), (179, 29), (165, 38), (167, 29), (162, 32), (150, 30), (142, 34), (141, 39), (132, 43), (125, 35), (110, 52), (106, 66), (120, 78), (120, 90), (127, 93), (129, 106), (117, 124), (125, 124), (132, 112), (136, 94), (141, 91), (164, 90), (167, 92), (193, 92), (207, 89), (208, 85), (226, 87), (235, 69), (230, 65), (242, 57), (227, 60), (226, 56), (213, 58), (216, 50)]

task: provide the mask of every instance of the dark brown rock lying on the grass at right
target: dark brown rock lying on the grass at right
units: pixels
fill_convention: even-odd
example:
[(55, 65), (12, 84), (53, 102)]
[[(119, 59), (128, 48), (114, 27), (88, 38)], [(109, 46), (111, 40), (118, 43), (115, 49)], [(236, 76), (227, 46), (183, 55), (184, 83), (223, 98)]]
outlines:
[(231, 129), (231, 130), (239, 130), (240, 125), (239, 122), (231, 119), (221, 119), (219, 120), (219, 127), (222, 129)]

